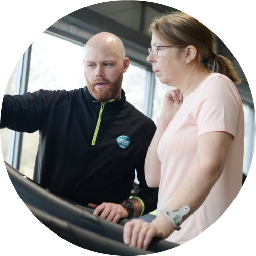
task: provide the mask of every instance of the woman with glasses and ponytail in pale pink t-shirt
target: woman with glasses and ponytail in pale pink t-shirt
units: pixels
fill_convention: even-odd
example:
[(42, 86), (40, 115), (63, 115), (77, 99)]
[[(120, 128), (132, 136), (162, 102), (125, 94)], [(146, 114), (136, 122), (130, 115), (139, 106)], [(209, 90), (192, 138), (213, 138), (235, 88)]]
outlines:
[(164, 96), (145, 162), (147, 185), (159, 187), (157, 218), (124, 226), (124, 242), (142, 249), (154, 236), (184, 244), (214, 224), (242, 187), (244, 150), (240, 79), (214, 52), (212, 32), (183, 12), (154, 19), (150, 32), (147, 61), (177, 90)]

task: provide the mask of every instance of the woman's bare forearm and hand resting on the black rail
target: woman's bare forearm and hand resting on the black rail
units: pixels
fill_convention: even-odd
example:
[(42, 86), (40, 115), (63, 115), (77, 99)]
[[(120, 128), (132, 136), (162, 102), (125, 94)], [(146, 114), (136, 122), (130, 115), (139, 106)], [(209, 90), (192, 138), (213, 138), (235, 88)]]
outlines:
[[(212, 164), (212, 162), (202, 161), (186, 177), (172, 201), (165, 208), (175, 211), (183, 205), (188, 205), (190, 212), (183, 216), (182, 222), (184, 222), (201, 206), (218, 178), (218, 167), (216, 168), (216, 165)], [(165, 218), (162, 212), (151, 223), (133, 219), (125, 223), (124, 242), (136, 247), (137, 240), (134, 237), (137, 238), (141, 230), (146, 230), (146, 238), (143, 241), (143, 249), (146, 249), (153, 237), (166, 239), (175, 231), (175, 227), (172, 222)]]

